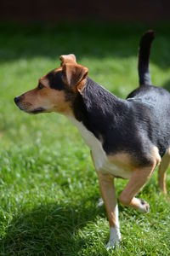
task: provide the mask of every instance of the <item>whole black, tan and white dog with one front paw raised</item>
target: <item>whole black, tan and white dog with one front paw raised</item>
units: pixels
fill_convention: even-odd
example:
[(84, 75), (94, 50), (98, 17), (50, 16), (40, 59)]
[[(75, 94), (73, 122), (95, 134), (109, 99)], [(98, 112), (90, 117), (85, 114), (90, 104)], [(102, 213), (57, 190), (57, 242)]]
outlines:
[(39, 79), (37, 88), (15, 97), (26, 113), (63, 113), (77, 125), (91, 148), (111, 228), (107, 247), (121, 240), (115, 177), (129, 179), (119, 196), (127, 206), (149, 211), (149, 204), (135, 195), (157, 165), (159, 187), (166, 193), (170, 162), (170, 94), (150, 85), (150, 45), (153, 32), (146, 32), (139, 47), (139, 88), (127, 100), (105, 90), (88, 77), (88, 68), (77, 64), (75, 55), (61, 55), (59, 68)]

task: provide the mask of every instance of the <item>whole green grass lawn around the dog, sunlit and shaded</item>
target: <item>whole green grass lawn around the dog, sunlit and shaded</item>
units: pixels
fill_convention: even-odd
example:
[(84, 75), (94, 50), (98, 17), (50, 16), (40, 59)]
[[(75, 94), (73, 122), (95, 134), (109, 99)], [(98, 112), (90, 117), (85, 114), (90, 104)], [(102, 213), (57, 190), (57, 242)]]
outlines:
[[(99, 184), (77, 129), (59, 114), (31, 116), (13, 102), (69, 53), (96, 82), (127, 96), (138, 85), (137, 49), (146, 28), (0, 25), (0, 255), (170, 255), (170, 207), (156, 172), (139, 195), (150, 213), (120, 206), (122, 242), (108, 253), (105, 207), (96, 207)], [(152, 81), (167, 89), (169, 29), (156, 26), (151, 56)], [(126, 183), (116, 180), (117, 195)], [(168, 195), (169, 188), (168, 174)]]

